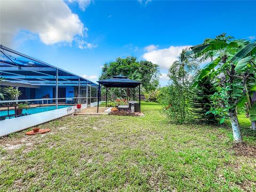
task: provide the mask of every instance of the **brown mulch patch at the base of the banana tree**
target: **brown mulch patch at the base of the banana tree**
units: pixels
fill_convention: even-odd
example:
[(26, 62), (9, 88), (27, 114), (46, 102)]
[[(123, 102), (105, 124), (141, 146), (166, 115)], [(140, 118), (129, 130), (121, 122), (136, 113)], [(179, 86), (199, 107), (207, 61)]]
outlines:
[(232, 148), (237, 156), (256, 157), (256, 146), (246, 143), (236, 143)]

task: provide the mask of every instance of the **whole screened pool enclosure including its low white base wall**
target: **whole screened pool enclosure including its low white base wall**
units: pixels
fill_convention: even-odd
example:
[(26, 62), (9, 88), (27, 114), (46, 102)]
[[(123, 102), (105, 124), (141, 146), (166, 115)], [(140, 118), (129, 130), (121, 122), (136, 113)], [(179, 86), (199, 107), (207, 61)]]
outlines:
[[(97, 83), (3, 45), (0, 45), (0, 77), (3, 77), (1, 79), (1, 86), (12, 86), (16, 87), (16, 89), (19, 89), (18, 87), (25, 87), (29, 89), (29, 93), (25, 90), (26, 95), (23, 97), (25, 99), (17, 97), (15, 100), (1, 100), (0, 104), (5, 104), (3, 106), (6, 106), (6, 104), (8, 106), (8, 103), (11, 102), (35, 103), (39, 101), (42, 101), (43, 104), (44, 102), (47, 102), (47, 104), (52, 102), (51, 105), (55, 105), (55, 110), (47, 110), (29, 115), (25, 114), (18, 118), (0, 121), (0, 137), (75, 113), (77, 110), (77, 107), (73, 105), (75, 102), (82, 101), (81, 109), (95, 107), (98, 103), (96, 102), (99, 87)], [(66, 91), (62, 89), (62, 94), (58, 94), (58, 91), (61, 93), (61, 87), (64, 87)], [(30, 95), (30, 88), (35, 90), (32, 97)], [(93, 95), (92, 91), (94, 91)], [(50, 93), (50, 97), (43, 97), (42, 95), (45, 93), (48, 95)], [(65, 98), (60, 98), (58, 95), (65, 95)], [(61, 101), (64, 100), (66, 103), (70, 99), (72, 104), (68, 105), (69, 107), (58, 108), (58, 103), (61, 105)], [(54, 100), (55, 103), (53, 102)], [(38, 107), (40, 108), (41, 106)]]

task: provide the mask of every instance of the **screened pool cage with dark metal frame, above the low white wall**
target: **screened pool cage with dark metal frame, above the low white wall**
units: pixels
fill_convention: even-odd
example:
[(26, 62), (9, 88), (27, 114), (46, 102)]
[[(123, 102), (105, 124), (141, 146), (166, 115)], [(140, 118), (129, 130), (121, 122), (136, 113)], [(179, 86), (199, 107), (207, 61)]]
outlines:
[[(56, 109), (58, 109), (58, 100), (90, 104), (96, 102), (98, 97), (98, 84), (3, 45), (0, 45), (0, 77), (3, 78), (1, 86), (13, 86), (16, 89), (18, 87), (40, 89), (42, 86), (49, 85), (55, 87), (52, 98), (1, 100), (1, 105), (13, 102), (48, 103), (55, 101)], [(58, 91), (63, 86), (76, 87), (76, 94), (71, 94), (70, 97), (66, 94), (66, 97), (59, 98)]]

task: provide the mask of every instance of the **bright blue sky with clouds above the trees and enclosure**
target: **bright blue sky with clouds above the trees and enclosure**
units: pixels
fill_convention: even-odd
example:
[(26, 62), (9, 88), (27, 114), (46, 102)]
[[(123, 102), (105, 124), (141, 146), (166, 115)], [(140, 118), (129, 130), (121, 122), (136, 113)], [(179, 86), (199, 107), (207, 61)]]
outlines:
[(96, 82), (129, 55), (167, 71), (185, 47), (256, 39), (256, 1), (0, 1), (0, 43)]

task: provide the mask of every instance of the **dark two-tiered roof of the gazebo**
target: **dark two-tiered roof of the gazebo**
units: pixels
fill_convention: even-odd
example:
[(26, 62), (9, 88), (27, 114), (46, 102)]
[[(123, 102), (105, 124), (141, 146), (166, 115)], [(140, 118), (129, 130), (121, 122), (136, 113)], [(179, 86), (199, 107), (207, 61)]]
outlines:
[(135, 81), (132, 79), (127, 78), (126, 76), (114, 76), (113, 78), (104, 79), (97, 81), (99, 84), (106, 86), (106, 87), (137, 87), (142, 82)]

